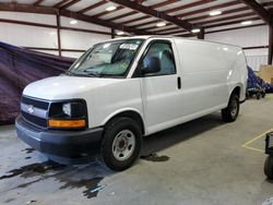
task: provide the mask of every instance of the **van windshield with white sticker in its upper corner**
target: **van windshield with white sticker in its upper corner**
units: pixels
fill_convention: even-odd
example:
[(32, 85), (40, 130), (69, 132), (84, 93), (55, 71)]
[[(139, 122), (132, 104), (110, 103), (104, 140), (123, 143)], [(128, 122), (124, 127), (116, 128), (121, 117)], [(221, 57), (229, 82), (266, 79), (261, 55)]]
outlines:
[(71, 75), (126, 76), (143, 39), (97, 44), (69, 69)]

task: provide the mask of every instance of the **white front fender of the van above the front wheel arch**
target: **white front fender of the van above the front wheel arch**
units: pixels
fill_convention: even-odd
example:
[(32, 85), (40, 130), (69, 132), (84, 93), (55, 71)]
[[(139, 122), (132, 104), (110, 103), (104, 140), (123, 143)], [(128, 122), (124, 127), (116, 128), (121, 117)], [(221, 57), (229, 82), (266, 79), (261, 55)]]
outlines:
[(88, 101), (90, 126), (104, 125), (122, 111), (134, 111), (144, 119), (139, 79), (123, 79), (96, 88), (85, 99)]

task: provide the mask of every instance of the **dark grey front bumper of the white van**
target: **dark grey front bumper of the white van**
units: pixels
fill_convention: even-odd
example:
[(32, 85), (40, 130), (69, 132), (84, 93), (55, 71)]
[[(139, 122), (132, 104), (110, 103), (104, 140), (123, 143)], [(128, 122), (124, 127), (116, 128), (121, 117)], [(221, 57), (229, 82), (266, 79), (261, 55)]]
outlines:
[[(38, 129), (22, 117), (15, 120), (17, 136), (34, 149), (48, 156), (79, 158), (99, 149), (103, 128), (84, 131), (56, 131)], [(50, 157), (49, 157), (50, 158)]]

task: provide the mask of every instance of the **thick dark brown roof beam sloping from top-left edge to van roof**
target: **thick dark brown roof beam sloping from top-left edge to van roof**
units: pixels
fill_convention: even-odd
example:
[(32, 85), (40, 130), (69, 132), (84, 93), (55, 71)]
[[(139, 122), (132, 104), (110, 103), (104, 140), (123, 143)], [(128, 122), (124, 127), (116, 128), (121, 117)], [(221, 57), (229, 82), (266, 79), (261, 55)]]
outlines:
[(92, 24), (97, 24), (105, 27), (110, 27), (128, 33), (139, 34), (139, 35), (153, 35), (154, 33), (145, 32), (141, 29), (135, 29), (133, 27), (123, 26), (122, 24), (116, 24), (106, 20), (99, 20), (93, 16), (84, 15), (81, 13), (59, 10), (49, 7), (35, 7), (33, 4), (20, 4), (20, 3), (0, 3), (0, 11), (14, 11), (14, 12), (27, 12), (27, 13), (43, 13), (43, 14), (60, 14), (66, 17), (73, 17), (79, 21), (84, 21)]

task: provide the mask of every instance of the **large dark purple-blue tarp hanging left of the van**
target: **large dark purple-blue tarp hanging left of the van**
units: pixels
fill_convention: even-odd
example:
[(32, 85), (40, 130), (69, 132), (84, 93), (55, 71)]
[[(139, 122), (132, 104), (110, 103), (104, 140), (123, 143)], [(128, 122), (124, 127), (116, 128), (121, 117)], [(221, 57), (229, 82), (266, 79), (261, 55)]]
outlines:
[(0, 41), (0, 124), (14, 122), (27, 84), (63, 73), (74, 60)]

